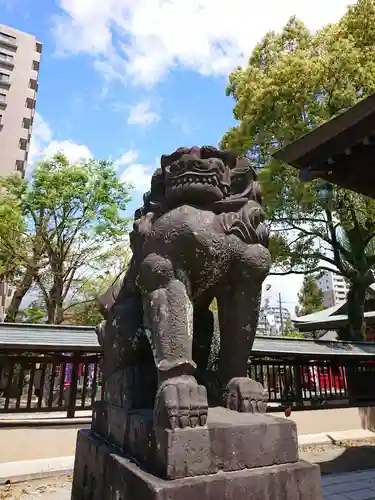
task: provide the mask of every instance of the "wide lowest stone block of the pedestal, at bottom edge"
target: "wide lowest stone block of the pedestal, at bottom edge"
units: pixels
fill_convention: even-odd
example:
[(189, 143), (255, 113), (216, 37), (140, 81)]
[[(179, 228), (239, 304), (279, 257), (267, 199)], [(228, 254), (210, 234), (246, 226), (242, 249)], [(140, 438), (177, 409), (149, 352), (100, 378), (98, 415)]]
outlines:
[(319, 468), (304, 461), (160, 479), (80, 431), (71, 500), (323, 500)]

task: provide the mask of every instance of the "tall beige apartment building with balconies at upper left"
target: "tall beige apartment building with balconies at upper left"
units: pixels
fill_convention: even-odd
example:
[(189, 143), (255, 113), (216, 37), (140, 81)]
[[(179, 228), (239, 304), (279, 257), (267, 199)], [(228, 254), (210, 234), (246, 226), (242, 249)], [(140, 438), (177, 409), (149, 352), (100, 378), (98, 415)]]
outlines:
[(25, 172), (42, 44), (0, 24), (0, 175)]

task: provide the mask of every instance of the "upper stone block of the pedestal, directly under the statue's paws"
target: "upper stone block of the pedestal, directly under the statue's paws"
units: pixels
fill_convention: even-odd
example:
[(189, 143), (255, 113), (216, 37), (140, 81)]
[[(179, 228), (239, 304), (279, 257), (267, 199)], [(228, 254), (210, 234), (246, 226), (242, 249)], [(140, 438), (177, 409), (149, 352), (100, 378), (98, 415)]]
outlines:
[(92, 430), (165, 479), (233, 472), (298, 461), (293, 421), (210, 408), (207, 426), (165, 430), (155, 446), (152, 411), (100, 402)]

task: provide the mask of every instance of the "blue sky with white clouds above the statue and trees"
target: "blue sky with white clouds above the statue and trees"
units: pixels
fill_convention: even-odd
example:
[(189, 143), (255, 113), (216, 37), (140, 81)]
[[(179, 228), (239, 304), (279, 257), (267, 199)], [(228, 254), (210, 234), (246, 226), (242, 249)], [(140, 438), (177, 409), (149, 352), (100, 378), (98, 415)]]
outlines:
[[(43, 43), (31, 163), (64, 150), (117, 162), (141, 204), (161, 154), (216, 145), (235, 122), (225, 96), (266, 31), (296, 14), (319, 29), (348, 0), (0, 0), (1, 22)], [(288, 280), (288, 281), (286, 281)], [(269, 278), (293, 309), (300, 277)]]

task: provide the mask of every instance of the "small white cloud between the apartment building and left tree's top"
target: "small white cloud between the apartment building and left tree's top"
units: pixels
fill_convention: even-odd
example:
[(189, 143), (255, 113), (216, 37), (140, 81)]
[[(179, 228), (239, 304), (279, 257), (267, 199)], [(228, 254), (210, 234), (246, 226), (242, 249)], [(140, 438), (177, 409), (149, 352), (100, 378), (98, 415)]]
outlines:
[(77, 144), (70, 139), (63, 141), (53, 139), (50, 126), (39, 113), (35, 113), (31, 137), (28, 159), (29, 169), (32, 169), (38, 160), (50, 158), (57, 152), (64, 153), (68, 160), (73, 163), (92, 157), (89, 148), (83, 144)]

